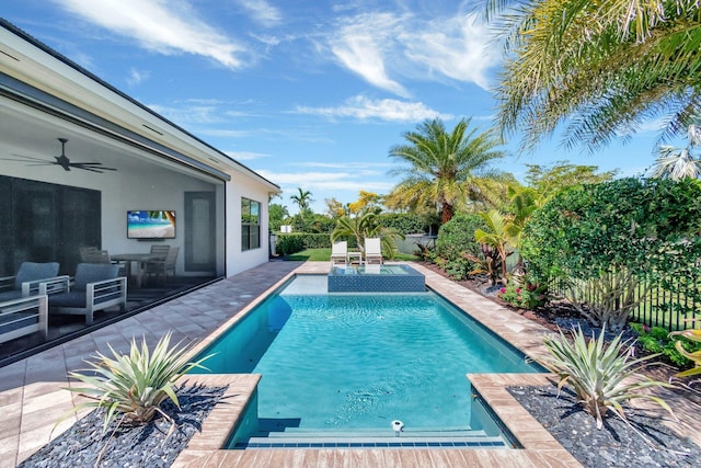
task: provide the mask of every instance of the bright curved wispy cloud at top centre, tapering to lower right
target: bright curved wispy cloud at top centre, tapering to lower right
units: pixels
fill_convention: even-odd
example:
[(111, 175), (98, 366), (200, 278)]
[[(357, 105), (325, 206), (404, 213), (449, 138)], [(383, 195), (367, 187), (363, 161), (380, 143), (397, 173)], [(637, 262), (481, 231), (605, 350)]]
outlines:
[(331, 38), (330, 47), (346, 68), (370, 84), (406, 96), (406, 90), (386, 70), (391, 30), (397, 22), (398, 19), (390, 13), (367, 13), (345, 19), (337, 35)]

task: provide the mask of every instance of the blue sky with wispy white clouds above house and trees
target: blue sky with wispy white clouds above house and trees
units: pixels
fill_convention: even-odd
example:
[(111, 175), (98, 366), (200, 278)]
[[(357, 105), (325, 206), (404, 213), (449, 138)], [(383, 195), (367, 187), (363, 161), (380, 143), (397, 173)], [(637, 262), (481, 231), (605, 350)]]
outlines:
[[(0, 15), (312, 208), (398, 182), (388, 157), (426, 118), (486, 129), (502, 60), (474, 1), (3, 0)], [(570, 160), (634, 175), (655, 124), (597, 155), (558, 138), (497, 168)]]

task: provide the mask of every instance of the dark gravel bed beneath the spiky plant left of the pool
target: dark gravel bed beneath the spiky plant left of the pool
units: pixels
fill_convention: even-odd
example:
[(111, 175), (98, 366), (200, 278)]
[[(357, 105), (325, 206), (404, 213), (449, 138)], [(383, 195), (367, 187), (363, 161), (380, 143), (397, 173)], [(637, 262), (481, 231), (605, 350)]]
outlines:
[(225, 390), (226, 387), (179, 387), (181, 410), (170, 399), (161, 404), (163, 412), (175, 421), (175, 429), (168, 440), (171, 423), (165, 418), (157, 416), (147, 425), (123, 425), (112, 436), (116, 421), (103, 433), (104, 410), (94, 410), (20, 467), (93, 467), (105, 444), (107, 448), (100, 467), (169, 467), (192, 436), (202, 430), (202, 422), (221, 400)]

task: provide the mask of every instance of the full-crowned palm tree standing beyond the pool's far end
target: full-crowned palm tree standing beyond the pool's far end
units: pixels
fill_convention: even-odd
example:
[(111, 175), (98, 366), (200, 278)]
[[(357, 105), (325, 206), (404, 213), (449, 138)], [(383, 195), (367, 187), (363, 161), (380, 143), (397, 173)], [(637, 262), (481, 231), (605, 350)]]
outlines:
[(502, 175), (490, 170), (489, 163), (505, 153), (495, 149), (499, 140), (492, 133), (468, 129), (470, 121), (461, 119), (451, 133), (440, 119), (426, 121), (416, 132), (404, 134), (407, 145), (393, 147), (390, 157), (410, 165), (390, 172), (405, 179), (388, 195), (388, 206), (417, 213), (438, 206), (445, 224), (452, 218), (456, 205), (489, 199), (485, 180)]

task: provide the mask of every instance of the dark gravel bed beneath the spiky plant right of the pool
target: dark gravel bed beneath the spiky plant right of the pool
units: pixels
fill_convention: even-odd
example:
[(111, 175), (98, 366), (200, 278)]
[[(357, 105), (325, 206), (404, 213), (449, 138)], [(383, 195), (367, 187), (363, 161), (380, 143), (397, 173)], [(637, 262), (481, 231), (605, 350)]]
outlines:
[(555, 387), (507, 390), (585, 467), (699, 466), (701, 448), (680, 438), (657, 418), (627, 409), (633, 429), (609, 412), (604, 427), (597, 430), (595, 419), (584, 412), (567, 389), (559, 398)]

